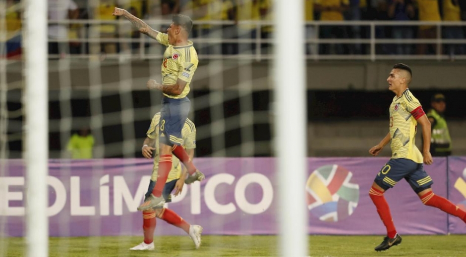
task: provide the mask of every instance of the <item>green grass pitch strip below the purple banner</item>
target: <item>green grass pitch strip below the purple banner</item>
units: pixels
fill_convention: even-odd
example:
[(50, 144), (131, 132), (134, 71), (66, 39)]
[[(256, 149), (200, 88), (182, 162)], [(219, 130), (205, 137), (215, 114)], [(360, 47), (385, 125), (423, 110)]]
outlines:
[[(309, 236), (312, 257), (464, 257), (466, 235), (403, 236), (403, 242), (385, 252), (373, 249), (382, 236)], [(51, 238), (51, 257), (217, 257), (278, 256), (277, 236), (203, 236), (196, 250), (188, 236), (155, 237), (155, 251), (128, 251), (142, 237)], [(23, 238), (1, 238), (0, 257), (24, 256)]]

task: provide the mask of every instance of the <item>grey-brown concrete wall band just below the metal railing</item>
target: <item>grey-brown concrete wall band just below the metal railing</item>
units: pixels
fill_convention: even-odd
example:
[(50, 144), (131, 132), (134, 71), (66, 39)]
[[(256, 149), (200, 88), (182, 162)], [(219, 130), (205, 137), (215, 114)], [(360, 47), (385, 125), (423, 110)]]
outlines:
[[(269, 90), (273, 88), (268, 61), (241, 63), (237, 60), (224, 60), (220, 73), (210, 69), (209, 62), (201, 62), (193, 78), (196, 89), (224, 88), (236, 89), (239, 85), (240, 69), (251, 70), (253, 90)], [(395, 63), (403, 61), (308, 61), (306, 65), (307, 88), (313, 90), (386, 90), (387, 77)], [(60, 88), (60, 62), (49, 60), (49, 88)], [(129, 65), (128, 65), (129, 64)], [(413, 70), (411, 87), (417, 89), (466, 89), (466, 73), (464, 61), (433, 62), (408, 61)], [(92, 62), (87, 59), (74, 59), (70, 64), (71, 87), (86, 89), (90, 86), (89, 70)], [(147, 79), (151, 77), (160, 81), (160, 60), (132, 60), (118, 62), (107, 60), (100, 64), (103, 90), (118, 88), (120, 66), (130, 69), (130, 84), (133, 90), (145, 90)], [(245, 67), (242, 67), (244, 65)], [(154, 72), (154, 69), (156, 72)], [(20, 85), (22, 63), (14, 62), (7, 67), (8, 86)], [(116, 76), (117, 75), (117, 76)], [(209, 85), (209, 81), (220, 76), (222, 85)], [(127, 78), (124, 78), (127, 79)]]

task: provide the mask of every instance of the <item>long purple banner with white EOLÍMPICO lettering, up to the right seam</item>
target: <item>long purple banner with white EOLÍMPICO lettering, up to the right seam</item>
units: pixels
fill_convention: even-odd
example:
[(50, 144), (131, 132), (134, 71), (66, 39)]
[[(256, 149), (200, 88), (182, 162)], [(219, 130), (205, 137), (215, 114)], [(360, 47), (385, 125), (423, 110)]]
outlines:
[[(309, 234), (385, 234), (368, 192), (387, 161), (309, 158), (307, 181), (296, 181), (295, 185), (306, 194), (307, 203), (303, 204), (309, 210)], [(185, 185), (168, 208), (187, 222), (202, 225), (204, 234), (278, 233), (280, 181), (273, 158), (197, 158), (195, 164), (206, 179)], [(2, 167), (6, 172), (0, 177), (0, 219), (5, 226), (0, 234), (23, 236), (24, 164), (7, 160)], [(151, 160), (51, 160), (49, 167), (51, 236), (142, 235), (142, 214), (136, 208), (147, 191)], [(435, 193), (446, 197), (446, 159), (436, 158), (425, 168), (434, 180)], [(292, 170), (287, 172), (293, 175)], [(400, 233), (448, 232), (447, 215), (424, 206), (406, 181), (388, 190), (386, 198)], [(184, 232), (158, 220), (156, 234)]]

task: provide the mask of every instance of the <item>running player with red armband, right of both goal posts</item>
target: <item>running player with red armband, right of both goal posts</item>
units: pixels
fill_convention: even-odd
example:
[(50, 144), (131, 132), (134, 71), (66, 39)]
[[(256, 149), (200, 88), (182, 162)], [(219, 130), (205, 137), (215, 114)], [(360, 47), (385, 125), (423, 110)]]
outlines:
[[(390, 105), (390, 132), (378, 145), (369, 150), (372, 156), (377, 156), (389, 142), (392, 149), (392, 158), (376, 175), (369, 191), (369, 196), (377, 208), (377, 213), (387, 228), (387, 236), (375, 248), (375, 251), (385, 251), (402, 241), (401, 236), (397, 233), (390, 214), (390, 208), (384, 197), (384, 192), (395, 186), (402, 178), (408, 181), (424, 205), (436, 207), (466, 222), (466, 212), (432, 192), (432, 178), (423, 169), (423, 163), (430, 165), (433, 162), (429, 152), (430, 122), (419, 101), (408, 89), (411, 79), (412, 72), (407, 65), (396, 64), (393, 66), (387, 79), (388, 88), (395, 93)], [(414, 144), (418, 123), (422, 126), (423, 154)]]

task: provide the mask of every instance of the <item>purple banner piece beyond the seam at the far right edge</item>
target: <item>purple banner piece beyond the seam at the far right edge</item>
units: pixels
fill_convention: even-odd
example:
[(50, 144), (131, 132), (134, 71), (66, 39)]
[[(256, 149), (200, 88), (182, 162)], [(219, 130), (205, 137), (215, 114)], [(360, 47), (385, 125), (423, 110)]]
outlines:
[[(448, 158), (448, 199), (466, 211), (466, 157)], [(449, 215), (448, 232), (466, 234), (466, 225), (458, 217)]]

